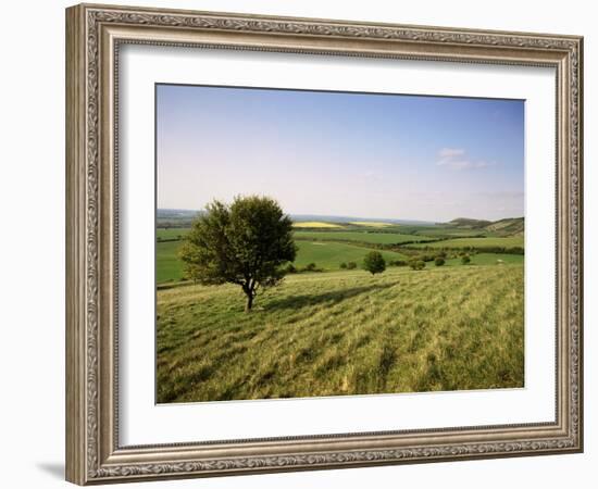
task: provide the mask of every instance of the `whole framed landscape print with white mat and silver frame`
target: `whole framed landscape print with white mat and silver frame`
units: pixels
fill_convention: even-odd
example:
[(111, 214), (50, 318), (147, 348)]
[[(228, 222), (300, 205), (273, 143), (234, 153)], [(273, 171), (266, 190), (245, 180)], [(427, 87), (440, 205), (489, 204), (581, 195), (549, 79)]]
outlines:
[(582, 451), (582, 41), (67, 9), (67, 479)]

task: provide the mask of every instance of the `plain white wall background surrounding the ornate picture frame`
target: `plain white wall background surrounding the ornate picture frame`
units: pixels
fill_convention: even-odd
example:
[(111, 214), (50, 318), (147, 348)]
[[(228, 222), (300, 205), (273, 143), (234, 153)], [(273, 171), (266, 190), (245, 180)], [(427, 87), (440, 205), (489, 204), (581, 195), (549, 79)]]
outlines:
[[(598, 464), (598, 36), (593, 2), (383, 0), (144, 0), (172, 7), (273, 15), (578, 34), (585, 39), (586, 452), (476, 462), (153, 482), (155, 488), (590, 487)], [(3, 5), (0, 29), (0, 451), (2, 487), (65, 487), (64, 453), (64, 1)], [(593, 277), (590, 279), (590, 277)], [(593, 303), (594, 302), (594, 303)], [(128, 487), (149, 487), (132, 485)]]

